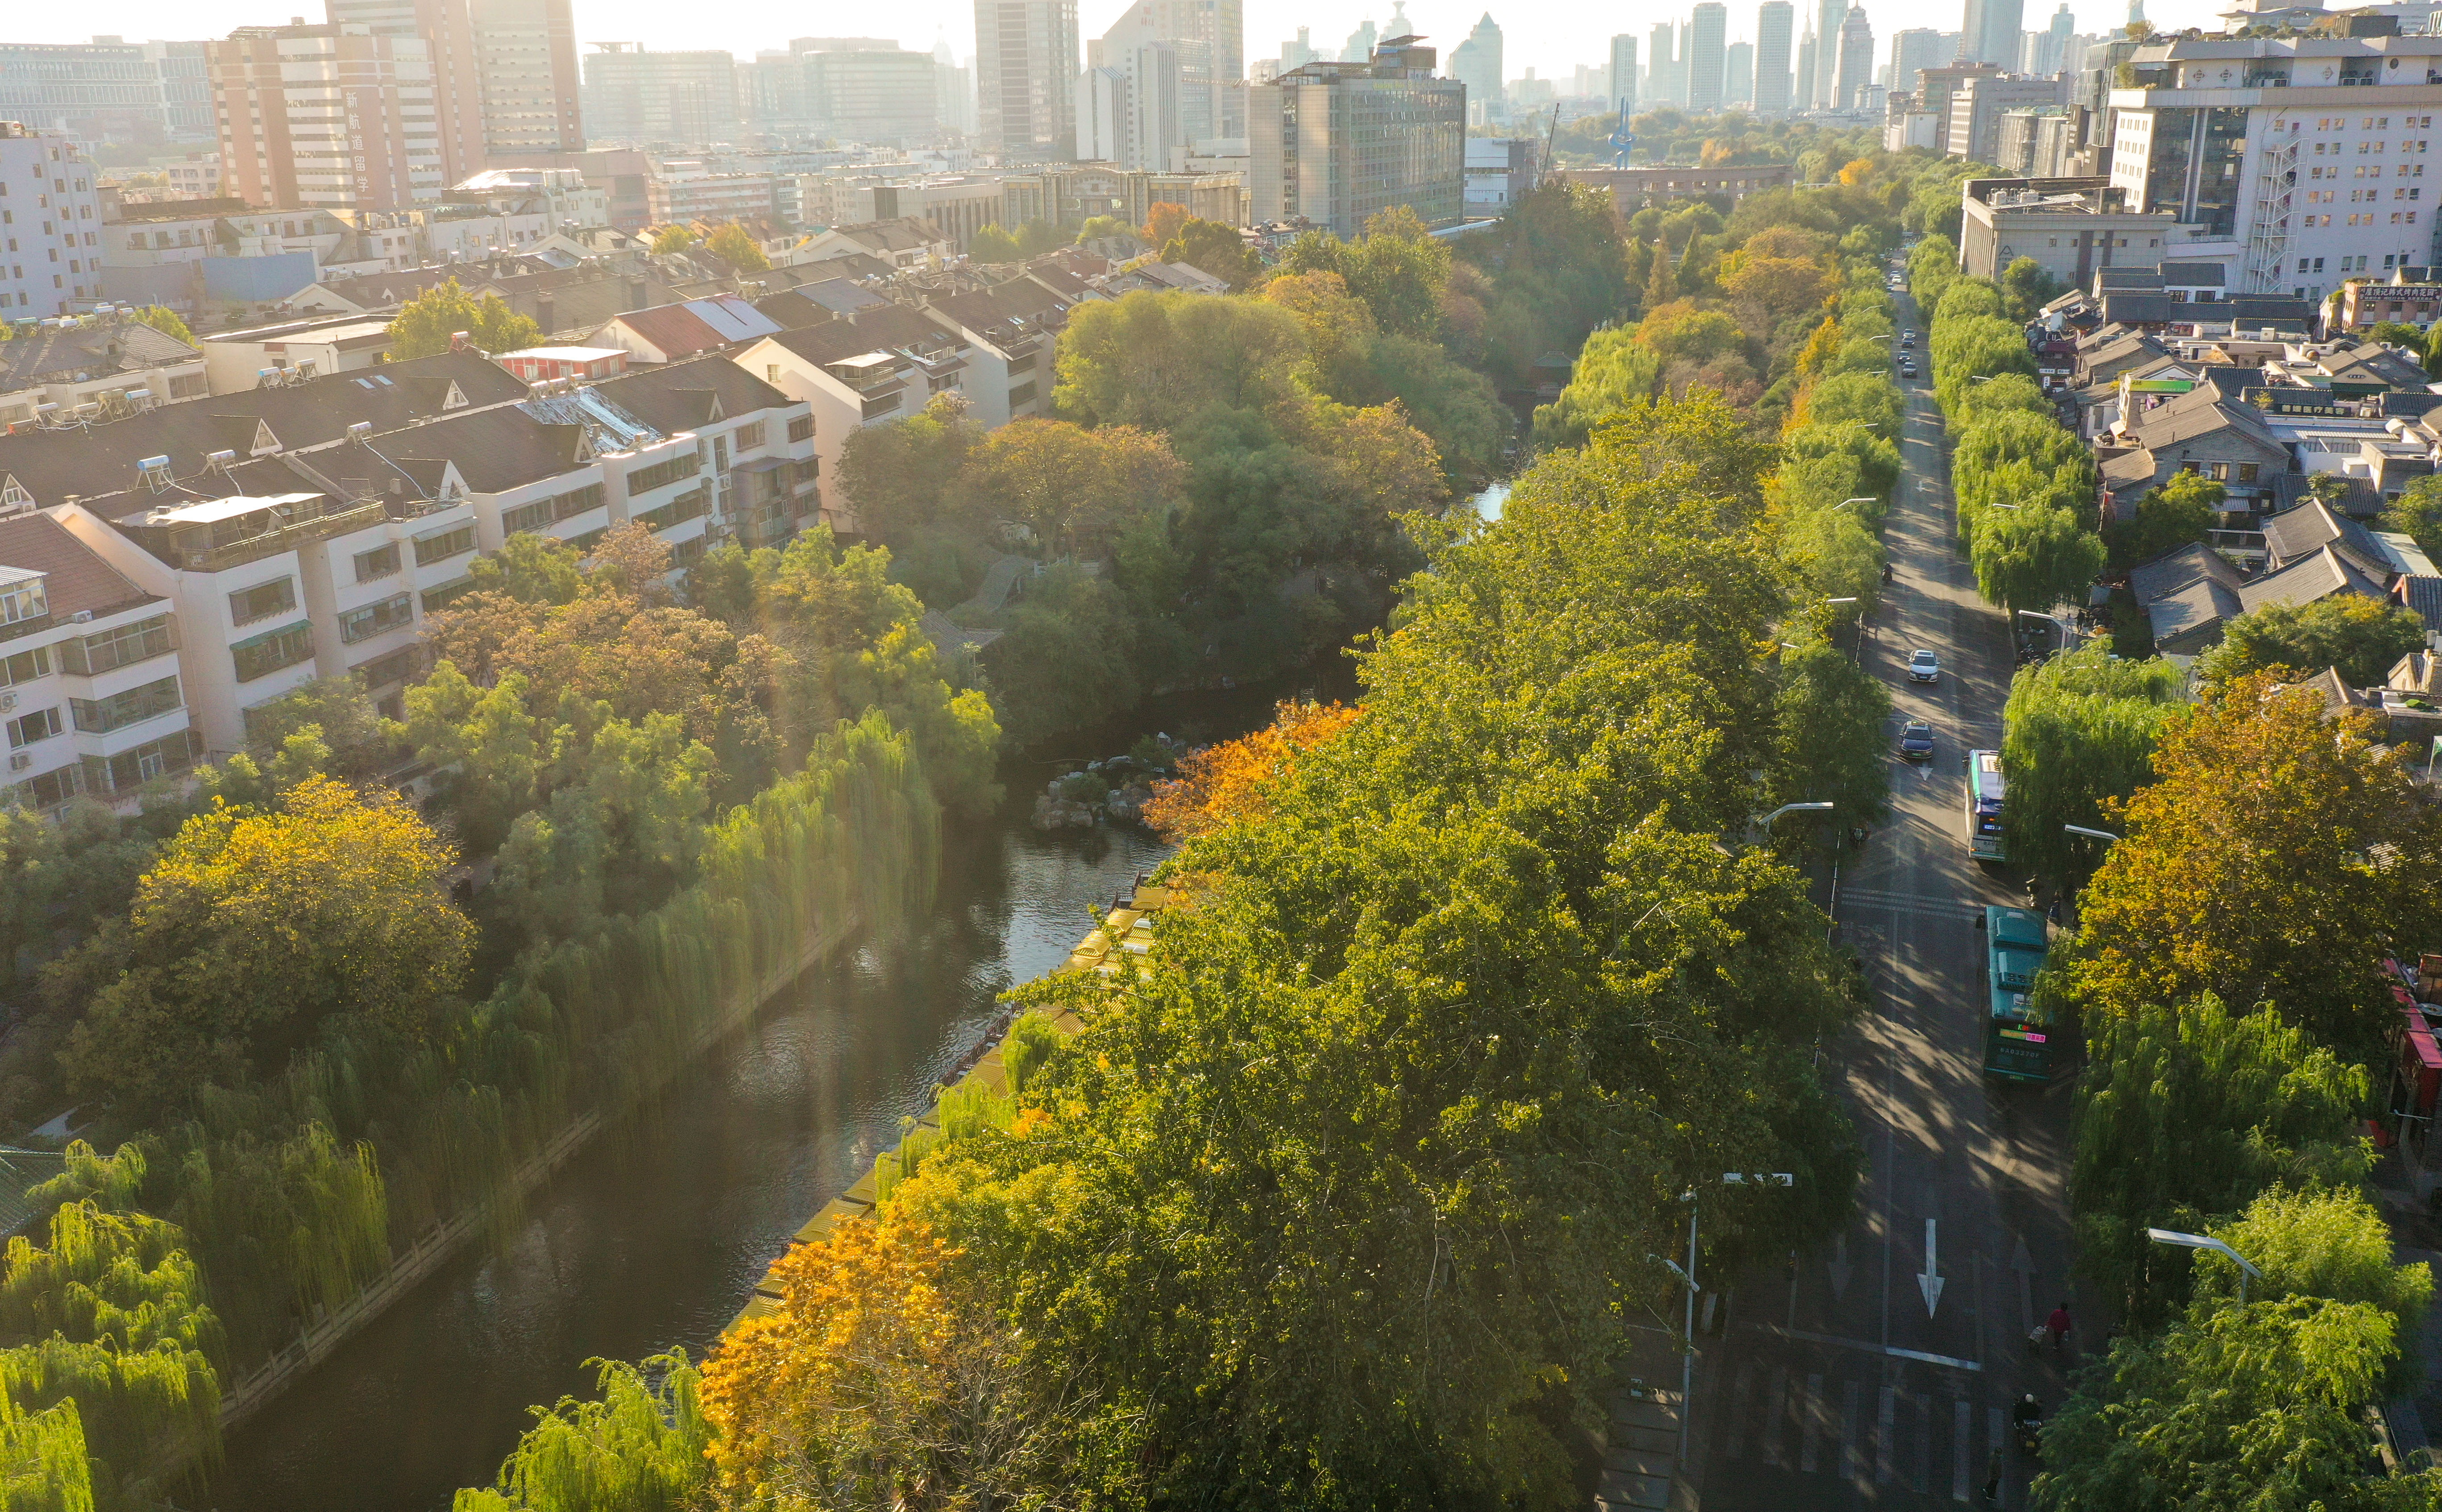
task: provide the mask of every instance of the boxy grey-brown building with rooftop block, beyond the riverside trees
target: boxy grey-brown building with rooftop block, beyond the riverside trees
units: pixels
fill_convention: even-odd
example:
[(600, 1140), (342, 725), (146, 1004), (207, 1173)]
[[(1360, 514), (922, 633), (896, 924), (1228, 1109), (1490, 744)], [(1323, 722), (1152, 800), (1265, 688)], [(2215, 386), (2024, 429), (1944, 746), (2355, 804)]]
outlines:
[(1370, 64), (1306, 64), (1253, 93), (1255, 220), (1355, 237), (1392, 205), (1426, 225), (1465, 217), (1468, 85), (1433, 49), (1394, 37)]

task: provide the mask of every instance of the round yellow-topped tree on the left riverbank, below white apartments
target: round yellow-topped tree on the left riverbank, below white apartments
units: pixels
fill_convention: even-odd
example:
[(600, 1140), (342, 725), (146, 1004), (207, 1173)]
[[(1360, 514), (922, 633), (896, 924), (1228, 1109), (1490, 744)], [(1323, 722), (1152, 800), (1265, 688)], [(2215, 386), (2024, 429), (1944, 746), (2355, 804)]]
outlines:
[(474, 943), (449, 906), (452, 860), (396, 794), (330, 777), (266, 813), (198, 813), (144, 874), (127, 921), (54, 975), (71, 1001), (90, 992), (66, 1050), (71, 1082), (156, 1111), (332, 1014), (425, 1033)]

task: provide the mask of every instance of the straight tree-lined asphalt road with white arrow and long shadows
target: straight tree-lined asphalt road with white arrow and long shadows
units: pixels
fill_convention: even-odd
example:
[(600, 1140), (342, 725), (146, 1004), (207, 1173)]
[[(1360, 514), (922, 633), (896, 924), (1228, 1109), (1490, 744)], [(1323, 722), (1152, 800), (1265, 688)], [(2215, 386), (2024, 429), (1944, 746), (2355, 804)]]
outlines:
[[(1897, 315), (1922, 352), (1907, 296)], [(2081, 1312), (2063, 1197), (2068, 1082), (1980, 1072), (1973, 909), (2017, 901), (2020, 877), (1966, 855), (1961, 755), (2000, 745), (2010, 633), (1956, 547), (1934, 398), (1922, 379), (1905, 393), (1885, 523), (1897, 581), (1861, 657), (1897, 718), (1932, 721), (1937, 750), (1922, 767), (1890, 757), (1893, 813), (1863, 852), (1844, 855), (1834, 916), (1866, 960), (1873, 1009), (1824, 1063), (1866, 1141), (1868, 1180), (1834, 1246), (1741, 1275), (1726, 1324), (1702, 1339), (1690, 1483), (1707, 1512), (1985, 1505), (1995, 1453), (1998, 1505), (2024, 1507), (2010, 1402), (2032, 1390), (2051, 1412), (2073, 1365), (2027, 1348), (2056, 1302)], [(1941, 657), (1939, 684), (1907, 681), (1915, 647)], [(1939, 1287), (1919, 1280), (1934, 1275)]]

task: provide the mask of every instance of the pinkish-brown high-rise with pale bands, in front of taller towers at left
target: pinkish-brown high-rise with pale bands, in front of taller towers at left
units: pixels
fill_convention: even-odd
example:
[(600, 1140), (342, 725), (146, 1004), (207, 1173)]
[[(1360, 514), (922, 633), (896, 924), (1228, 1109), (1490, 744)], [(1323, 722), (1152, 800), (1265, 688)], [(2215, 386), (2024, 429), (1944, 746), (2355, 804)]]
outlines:
[(410, 210), (442, 198), (422, 37), (239, 27), (205, 44), (205, 66), (222, 193), (313, 210)]

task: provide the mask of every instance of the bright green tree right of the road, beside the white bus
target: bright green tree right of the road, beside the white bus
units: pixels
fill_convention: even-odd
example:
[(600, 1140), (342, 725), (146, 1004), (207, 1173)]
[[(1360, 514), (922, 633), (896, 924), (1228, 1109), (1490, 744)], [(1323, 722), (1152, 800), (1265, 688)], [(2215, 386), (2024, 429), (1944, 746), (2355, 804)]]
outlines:
[(2012, 860), (2044, 877), (2090, 860), (2095, 843), (2061, 826), (2105, 828), (2105, 806), (2154, 779), (2154, 740), (2183, 686), (2171, 662), (2127, 662), (2100, 642), (2020, 667), (2000, 740)]

